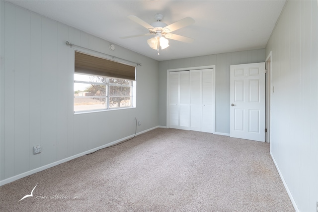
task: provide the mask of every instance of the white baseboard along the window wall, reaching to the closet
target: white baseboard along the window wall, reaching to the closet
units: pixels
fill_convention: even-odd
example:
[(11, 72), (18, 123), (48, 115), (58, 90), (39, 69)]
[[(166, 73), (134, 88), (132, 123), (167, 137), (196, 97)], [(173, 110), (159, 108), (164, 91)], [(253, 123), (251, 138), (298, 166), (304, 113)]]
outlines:
[[(153, 127), (153, 128), (146, 129), (146, 130), (144, 130), (144, 131), (138, 132), (138, 133), (136, 133), (136, 135), (143, 134), (143, 133), (145, 133), (145, 132), (148, 132), (148, 131), (153, 130), (153, 129), (156, 129), (156, 128), (166, 128), (166, 127), (165, 127), (165, 126), (156, 126), (156, 127)], [(106, 148), (106, 147), (115, 145), (115, 144), (117, 144), (117, 143), (120, 143), (120, 142), (122, 142), (122, 141), (125, 141), (125, 140), (130, 139), (130, 138), (133, 138), (133, 137), (134, 137), (134, 134), (133, 134), (133, 135), (130, 135), (130, 136), (127, 136), (127, 137), (125, 137), (125, 138), (122, 138), (122, 139), (119, 139), (119, 140), (116, 140), (116, 141), (107, 143), (107, 144), (105, 144), (105, 145), (102, 145), (102, 146), (99, 146), (99, 147), (96, 147), (96, 148), (87, 150), (87, 151), (85, 151), (85, 152), (82, 152), (82, 153), (73, 155), (73, 156), (71, 156), (71, 157), (64, 158), (64, 159), (62, 159), (62, 160), (59, 160), (59, 161), (56, 161), (56, 162), (53, 162), (53, 163), (50, 163), (50, 164), (41, 166), (41, 167), (39, 167), (39, 168), (32, 169), (32, 170), (30, 170), (30, 171), (27, 171), (27, 172), (24, 172), (24, 173), (15, 175), (15, 176), (13, 176), (13, 177), (10, 177), (10, 178), (1, 180), (1, 181), (0, 181), (0, 186), (5, 185), (5, 184), (7, 184), (7, 183), (11, 183), (11, 182), (16, 181), (16, 180), (18, 180), (18, 179), (21, 179), (21, 178), (23, 178), (23, 177), (32, 175), (32, 174), (34, 174), (34, 173), (43, 171), (43, 170), (45, 170), (45, 169), (51, 168), (51, 167), (53, 167), (53, 166), (59, 165), (59, 164), (61, 164), (61, 163), (65, 163), (65, 162), (67, 162), (67, 161), (73, 160), (73, 159), (75, 159), (75, 158), (78, 158), (78, 157), (80, 157), (80, 156), (86, 155), (86, 154), (88, 154), (88, 153), (95, 152), (95, 151), (97, 151), (97, 150), (99, 150), (99, 149), (103, 149), (103, 148)]]

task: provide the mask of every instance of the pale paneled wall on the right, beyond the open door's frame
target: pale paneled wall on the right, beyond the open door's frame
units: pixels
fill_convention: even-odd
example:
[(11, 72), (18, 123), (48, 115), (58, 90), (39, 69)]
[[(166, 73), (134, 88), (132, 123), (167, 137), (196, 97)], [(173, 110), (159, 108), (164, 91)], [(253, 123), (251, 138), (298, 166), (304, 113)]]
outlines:
[[(271, 154), (296, 209), (318, 201), (318, 1), (288, 0), (272, 51)], [(274, 92), (273, 92), (274, 89)]]

